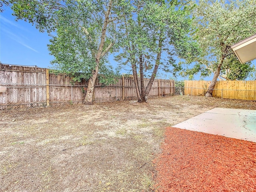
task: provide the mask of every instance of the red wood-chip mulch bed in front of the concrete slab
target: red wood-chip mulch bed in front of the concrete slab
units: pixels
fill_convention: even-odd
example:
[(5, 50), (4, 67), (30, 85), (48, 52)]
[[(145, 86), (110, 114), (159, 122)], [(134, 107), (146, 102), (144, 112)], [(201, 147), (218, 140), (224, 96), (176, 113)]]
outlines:
[(157, 192), (256, 192), (256, 143), (169, 127)]

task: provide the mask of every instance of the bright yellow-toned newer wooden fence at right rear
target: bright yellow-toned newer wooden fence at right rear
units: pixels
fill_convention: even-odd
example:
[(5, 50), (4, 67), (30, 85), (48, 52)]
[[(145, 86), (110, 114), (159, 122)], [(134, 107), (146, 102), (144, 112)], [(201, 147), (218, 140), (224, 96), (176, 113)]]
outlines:
[[(184, 94), (205, 95), (210, 81), (185, 81)], [(256, 100), (256, 80), (217, 81), (212, 96), (226, 99)]]

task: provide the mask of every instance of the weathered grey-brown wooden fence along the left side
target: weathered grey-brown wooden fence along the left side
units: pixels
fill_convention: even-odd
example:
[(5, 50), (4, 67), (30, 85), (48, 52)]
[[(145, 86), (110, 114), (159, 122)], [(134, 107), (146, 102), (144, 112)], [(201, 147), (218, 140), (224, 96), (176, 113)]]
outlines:
[[(72, 82), (69, 76), (51, 74), (46, 68), (1, 64), (0, 70), (0, 109), (10, 106), (35, 107), (81, 103), (87, 87), (86, 80)], [(149, 79), (146, 79), (144, 84), (146, 85), (148, 81)], [(149, 97), (174, 95), (174, 93), (174, 80), (156, 79)], [(132, 78), (122, 76), (116, 79), (115, 84), (108, 86), (103, 86), (96, 80), (95, 102), (136, 98)]]

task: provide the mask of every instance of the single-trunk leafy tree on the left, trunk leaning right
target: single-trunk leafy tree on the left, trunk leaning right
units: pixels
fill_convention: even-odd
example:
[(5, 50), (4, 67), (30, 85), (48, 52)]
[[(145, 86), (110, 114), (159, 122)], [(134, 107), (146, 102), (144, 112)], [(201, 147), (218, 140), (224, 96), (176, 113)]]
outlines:
[(17, 19), (36, 24), (52, 39), (48, 45), (55, 57), (52, 64), (66, 73), (88, 79), (85, 104), (93, 103), (99, 70), (114, 45), (120, 10), (129, 8), (127, 0), (10, 0)]

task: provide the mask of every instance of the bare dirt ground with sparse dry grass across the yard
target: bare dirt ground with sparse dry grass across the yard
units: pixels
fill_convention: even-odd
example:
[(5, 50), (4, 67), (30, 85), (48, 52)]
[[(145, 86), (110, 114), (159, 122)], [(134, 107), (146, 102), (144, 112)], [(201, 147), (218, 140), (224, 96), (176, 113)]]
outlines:
[(154, 191), (165, 128), (256, 102), (172, 96), (0, 111), (0, 191)]

